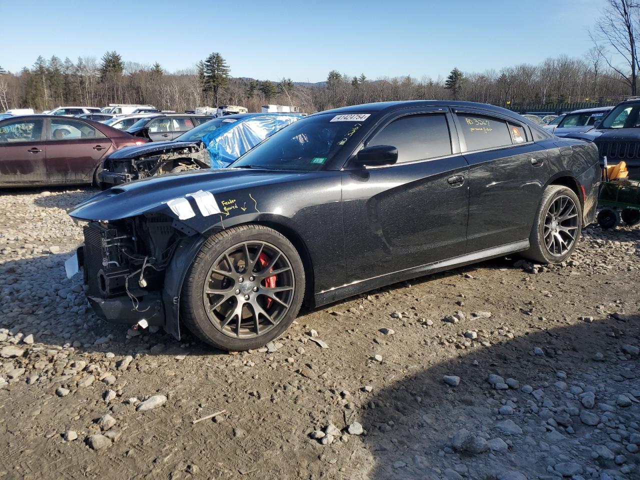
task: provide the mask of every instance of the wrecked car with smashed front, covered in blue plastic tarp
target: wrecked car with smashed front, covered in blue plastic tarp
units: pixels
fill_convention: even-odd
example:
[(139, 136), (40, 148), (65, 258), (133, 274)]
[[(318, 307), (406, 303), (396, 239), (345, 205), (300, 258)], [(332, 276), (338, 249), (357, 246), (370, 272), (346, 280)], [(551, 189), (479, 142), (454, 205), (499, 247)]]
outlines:
[(102, 163), (100, 188), (165, 173), (222, 168), (300, 118), (303, 116), (277, 113), (228, 115), (200, 124), (172, 141), (124, 148)]

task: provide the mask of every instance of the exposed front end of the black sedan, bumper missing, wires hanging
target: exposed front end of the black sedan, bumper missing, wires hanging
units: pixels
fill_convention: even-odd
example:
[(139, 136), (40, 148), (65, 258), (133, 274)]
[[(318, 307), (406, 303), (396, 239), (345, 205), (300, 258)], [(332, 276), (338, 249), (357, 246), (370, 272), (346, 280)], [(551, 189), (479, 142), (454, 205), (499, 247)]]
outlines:
[(89, 222), (77, 260), (95, 313), (112, 323), (164, 326), (164, 276), (182, 237), (162, 214)]

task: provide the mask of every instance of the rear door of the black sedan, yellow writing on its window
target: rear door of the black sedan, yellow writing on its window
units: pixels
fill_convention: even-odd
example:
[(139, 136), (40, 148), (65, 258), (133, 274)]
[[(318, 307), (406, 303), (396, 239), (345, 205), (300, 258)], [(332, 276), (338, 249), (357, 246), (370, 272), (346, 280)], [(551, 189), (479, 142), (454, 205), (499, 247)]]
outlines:
[(547, 151), (515, 118), (454, 109), (469, 164), (467, 253), (529, 239), (548, 179)]

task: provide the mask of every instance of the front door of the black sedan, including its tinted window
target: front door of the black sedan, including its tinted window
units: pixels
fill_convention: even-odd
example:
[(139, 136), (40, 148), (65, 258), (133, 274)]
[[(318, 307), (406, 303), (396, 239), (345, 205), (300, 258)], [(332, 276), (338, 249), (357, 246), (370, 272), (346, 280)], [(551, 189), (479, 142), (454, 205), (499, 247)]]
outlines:
[(465, 253), (468, 166), (442, 108), (387, 117), (365, 147), (392, 145), (396, 164), (342, 175), (347, 282)]

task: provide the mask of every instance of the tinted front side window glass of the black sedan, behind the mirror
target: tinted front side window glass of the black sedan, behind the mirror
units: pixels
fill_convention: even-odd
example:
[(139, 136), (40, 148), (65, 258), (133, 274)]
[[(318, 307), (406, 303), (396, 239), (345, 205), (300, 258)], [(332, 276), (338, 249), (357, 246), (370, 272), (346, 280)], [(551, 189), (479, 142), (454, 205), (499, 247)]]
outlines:
[(449, 125), (444, 115), (408, 115), (394, 120), (372, 138), (367, 147), (392, 145), (398, 163), (451, 155)]

